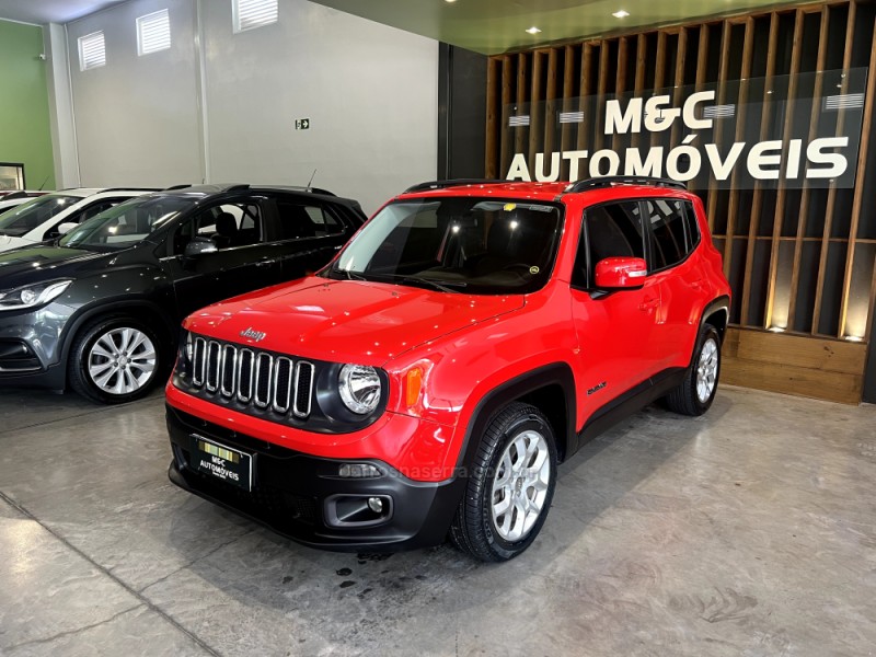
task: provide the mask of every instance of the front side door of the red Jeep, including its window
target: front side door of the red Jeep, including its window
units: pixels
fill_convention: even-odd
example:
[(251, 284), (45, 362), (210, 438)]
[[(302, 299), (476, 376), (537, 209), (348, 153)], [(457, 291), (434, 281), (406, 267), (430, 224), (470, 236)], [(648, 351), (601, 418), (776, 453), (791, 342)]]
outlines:
[(596, 264), (607, 257), (645, 257), (637, 201), (587, 208), (572, 280), (572, 314), (580, 345), (578, 385), (583, 418), (655, 372), (652, 341), (660, 307), (652, 277), (641, 288), (600, 290)]

